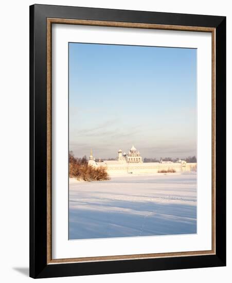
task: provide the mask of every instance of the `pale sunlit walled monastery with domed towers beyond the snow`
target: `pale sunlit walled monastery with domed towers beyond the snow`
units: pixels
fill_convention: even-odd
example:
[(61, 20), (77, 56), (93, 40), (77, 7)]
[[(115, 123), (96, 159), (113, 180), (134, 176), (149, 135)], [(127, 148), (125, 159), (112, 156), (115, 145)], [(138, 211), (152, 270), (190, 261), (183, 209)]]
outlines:
[(175, 172), (193, 171), (197, 170), (197, 163), (186, 163), (186, 161), (179, 160), (178, 162), (142, 162), (140, 152), (132, 145), (128, 153), (122, 153), (122, 150), (118, 150), (118, 156), (115, 160), (104, 160), (100, 158), (95, 160), (91, 149), (90, 160), (88, 165), (91, 166), (103, 166), (108, 171), (109, 175), (124, 175), (124, 174), (153, 174), (162, 170), (173, 169)]

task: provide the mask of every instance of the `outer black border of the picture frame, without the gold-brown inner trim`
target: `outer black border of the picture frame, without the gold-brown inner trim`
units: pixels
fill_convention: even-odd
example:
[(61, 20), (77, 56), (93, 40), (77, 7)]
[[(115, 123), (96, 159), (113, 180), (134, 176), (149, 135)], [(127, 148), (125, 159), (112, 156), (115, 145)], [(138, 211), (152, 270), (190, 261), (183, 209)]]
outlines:
[[(47, 18), (210, 27), (216, 31), (216, 254), (47, 263)], [(226, 265), (226, 17), (52, 5), (30, 6), (30, 277)]]

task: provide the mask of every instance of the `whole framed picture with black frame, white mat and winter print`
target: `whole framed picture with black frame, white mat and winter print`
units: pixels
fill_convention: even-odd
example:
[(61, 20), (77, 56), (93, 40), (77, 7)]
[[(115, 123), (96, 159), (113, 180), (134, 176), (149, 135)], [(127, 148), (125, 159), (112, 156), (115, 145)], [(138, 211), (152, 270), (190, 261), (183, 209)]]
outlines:
[(226, 18), (30, 6), (30, 276), (226, 264)]

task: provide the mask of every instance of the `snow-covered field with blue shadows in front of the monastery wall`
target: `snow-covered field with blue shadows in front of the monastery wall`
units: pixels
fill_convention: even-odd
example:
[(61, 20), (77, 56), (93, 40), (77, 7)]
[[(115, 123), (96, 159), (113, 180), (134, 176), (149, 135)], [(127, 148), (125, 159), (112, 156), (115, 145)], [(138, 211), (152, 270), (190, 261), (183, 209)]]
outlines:
[(69, 179), (69, 239), (197, 233), (197, 174)]

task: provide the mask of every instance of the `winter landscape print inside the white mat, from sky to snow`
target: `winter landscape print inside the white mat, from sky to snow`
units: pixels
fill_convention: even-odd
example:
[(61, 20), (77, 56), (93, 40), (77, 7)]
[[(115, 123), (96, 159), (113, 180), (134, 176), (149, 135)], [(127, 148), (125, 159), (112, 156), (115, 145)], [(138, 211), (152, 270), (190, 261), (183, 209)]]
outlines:
[(197, 49), (68, 51), (69, 239), (197, 233)]

